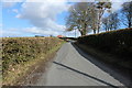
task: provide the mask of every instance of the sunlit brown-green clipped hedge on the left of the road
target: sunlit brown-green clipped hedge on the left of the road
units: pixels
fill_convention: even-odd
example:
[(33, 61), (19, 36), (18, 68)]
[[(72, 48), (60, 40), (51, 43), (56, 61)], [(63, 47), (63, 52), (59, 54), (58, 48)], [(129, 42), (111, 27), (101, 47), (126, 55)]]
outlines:
[(2, 72), (10, 67), (46, 54), (59, 45), (62, 40), (56, 37), (4, 37), (2, 38)]

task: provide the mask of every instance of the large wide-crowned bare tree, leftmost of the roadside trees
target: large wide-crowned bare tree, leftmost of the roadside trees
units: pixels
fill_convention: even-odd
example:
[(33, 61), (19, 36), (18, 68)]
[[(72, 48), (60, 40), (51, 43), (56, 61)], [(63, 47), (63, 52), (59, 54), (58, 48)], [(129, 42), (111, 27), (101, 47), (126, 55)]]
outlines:
[(78, 2), (70, 7), (67, 16), (67, 31), (78, 30), (81, 35), (86, 35), (97, 26), (97, 10), (92, 2)]

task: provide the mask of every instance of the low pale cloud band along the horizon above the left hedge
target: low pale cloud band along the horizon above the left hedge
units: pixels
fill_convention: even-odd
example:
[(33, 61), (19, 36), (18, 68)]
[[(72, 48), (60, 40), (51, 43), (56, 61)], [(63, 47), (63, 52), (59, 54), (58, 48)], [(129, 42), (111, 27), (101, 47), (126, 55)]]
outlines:
[[(50, 35), (64, 35), (64, 36), (69, 36), (74, 37), (75, 36), (75, 31), (72, 32), (66, 32), (66, 31), (54, 31), (54, 30), (44, 30), (42, 28), (22, 28), (22, 29), (6, 29), (6, 30), (0, 30), (0, 37), (16, 37), (16, 36), (34, 36), (34, 35), (44, 35), (44, 36), (50, 36)], [(76, 36), (80, 36), (80, 33), (76, 31)]]

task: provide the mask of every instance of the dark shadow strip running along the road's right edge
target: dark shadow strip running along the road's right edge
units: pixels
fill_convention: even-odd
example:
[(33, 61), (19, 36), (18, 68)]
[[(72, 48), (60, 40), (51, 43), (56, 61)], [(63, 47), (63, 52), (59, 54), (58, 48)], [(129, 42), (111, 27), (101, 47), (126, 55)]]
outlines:
[(118, 74), (117, 70), (113, 70), (112, 66), (109, 66), (102, 62), (100, 62), (99, 59), (96, 59), (96, 57), (89, 55), (88, 53), (81, 51), (77, 45), (75, 45), (74, 43), (72, 43), (72, 45), (75, 47), (75, 50), (81, 55), (84, 56), (86, 59), (88, 59), (89, 62), (91, 62), (92, 64), (95, 64), (96, 66), (98, 66), (100, 69), (102, 69), (103, 72), (108, 73), (109, 75), (111, 75), (112, 77), (114, 77), (116, 79), (118, 79), (120, 82), (122, 82), (125, 86), (131, 86), (131, 80), (128, 80), (127, 78), (124, 78), (123, 76), (121, 76), (120, 74)]

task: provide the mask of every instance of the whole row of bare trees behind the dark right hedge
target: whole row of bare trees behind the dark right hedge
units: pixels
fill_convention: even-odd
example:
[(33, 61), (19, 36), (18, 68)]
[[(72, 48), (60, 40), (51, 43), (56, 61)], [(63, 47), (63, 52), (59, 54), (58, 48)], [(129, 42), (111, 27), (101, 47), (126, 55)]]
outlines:
[[(132, 1), (124, 2), (121, 10), (112, 11), (111, 2), (77, 2), (68, 10), (66, 18), (67, 31), (78, 30), (81, 35), (100, 29), (118, 30), (121, 25), (132, 28)], [(107, 12), (107, 16), (103, 14)]]

